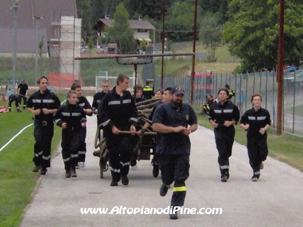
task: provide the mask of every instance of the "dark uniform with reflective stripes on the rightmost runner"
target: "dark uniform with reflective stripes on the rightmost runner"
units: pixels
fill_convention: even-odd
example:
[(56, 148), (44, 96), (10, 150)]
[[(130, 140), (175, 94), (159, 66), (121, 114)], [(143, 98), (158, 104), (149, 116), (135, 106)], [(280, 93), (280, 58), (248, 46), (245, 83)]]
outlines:
[(257, 111), (251, 108), (244, 112), (241, 117), (241, 124), (249, 124), (247, 129), (247, 152), (249, 157), (249, 164), (254, 171), (254, 177), (260, 177), (260, 164), (266, 160), (268, 155), (267, 147), (267, 133), (262, 135), (259, 131), (266, 125), (271, 124), (270, 114), (264, 109), (260, 108)]

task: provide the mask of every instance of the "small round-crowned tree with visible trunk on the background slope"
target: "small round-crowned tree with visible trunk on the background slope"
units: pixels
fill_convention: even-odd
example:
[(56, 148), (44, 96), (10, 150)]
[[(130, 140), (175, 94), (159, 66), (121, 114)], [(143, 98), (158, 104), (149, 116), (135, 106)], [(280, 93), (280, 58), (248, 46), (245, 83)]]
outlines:
[(199, 31), (200, 41), (211, 48), (210, 62), (216, 62), (215, 52), (222, 42), (222, 25), (218, 24), (214, 15), (210, 14), (201, 21)]

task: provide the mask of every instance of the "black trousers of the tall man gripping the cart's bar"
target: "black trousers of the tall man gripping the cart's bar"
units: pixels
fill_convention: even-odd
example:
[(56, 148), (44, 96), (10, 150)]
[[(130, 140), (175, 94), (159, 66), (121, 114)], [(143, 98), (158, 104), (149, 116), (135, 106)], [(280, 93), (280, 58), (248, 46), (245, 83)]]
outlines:
[(113, 180), (119, 182), (122, 176), (127, 176), (131, 159), (130, 135), (106, 135), (106, 145), (109, 150), (111, 174)]

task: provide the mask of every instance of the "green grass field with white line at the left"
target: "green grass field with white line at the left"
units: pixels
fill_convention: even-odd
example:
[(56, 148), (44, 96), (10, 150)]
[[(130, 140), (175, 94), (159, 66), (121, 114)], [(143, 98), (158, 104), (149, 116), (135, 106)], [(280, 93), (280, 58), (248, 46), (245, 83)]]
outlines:
[[(61, 101), (63, 96), (59, 97)], [(14, 104), (14, 103), (13, 103)], [(6, 103), (0, 101), (0, 106)], [(0, 113), (0, 147), (6, 144), (25, 126), (33, 123), (32, 115), (26, 110)], [(55, 126), (52, 152), (61, 139), (61, 129)], [(39, 173), (33, 173), (33, 126), (25, 129), (0, 152), (0, 226), (17, 227), (22, 220), (25, 206), (30, 203), (31, 194), (36, 187)]]

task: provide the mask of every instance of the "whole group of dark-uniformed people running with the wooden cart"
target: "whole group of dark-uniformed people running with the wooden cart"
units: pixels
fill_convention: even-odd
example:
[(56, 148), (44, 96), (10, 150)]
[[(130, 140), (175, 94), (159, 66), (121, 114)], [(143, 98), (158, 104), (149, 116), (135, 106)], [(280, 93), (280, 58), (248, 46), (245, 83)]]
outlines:
[[(61, 145), (65, 177), (77, 177), (75, 169), (79, 162), (85, 161), (86, 116), (95, 113), (98, 119), (97, 124), (102, 126), (109, 150), (112, 176), (110, 185), (118, 186), (120, 181), (123, 185), (128, 185), (127, 175), (131, 164), (129, 144), (136, 133), (138, 115), (135, 103), (142, 100), (140, 94), (144, 90), (138, 87), (136, 91), (139, 94), (132, 96), (127, 91), (129, 77), (120, 74), (117, 77), (117, 85), (112, 90), (109, 90), (108, 81), (102, 83), (103, 91), (94, 95), (92, 107), (87, 99), (82, 97), (81, 86), (77, 83), (73, 84), (68, 92), (67, 103), (60, 105), (59, 98), (47, 90), (47, 82), (46, 77), (40, 77), (37, 80), (39, 90), (33, 93), (27, 102), (28, 111), (35, 115), (36, 142), (33, 172), (41, 169), (40, 174), (45, 175), (46, 168), (50, 166), (55, 122), (62, 128)], [(181, 207), (184, 204), (185, 181), (189, 177), (189, 135), (197, 130), (197, 117), (193, 108), (183, 102), (185, 94), (183, 87), (168, 87), (165, 91), (159, 90), (159, 92), (162, 103), (154, 107), (143, 129), (151, 126), (157, 132), (156, 155), (152, 163), (158, 166), (158, 174), (159, 169), (161, 171), (161, 196), (165, 196), (170, 185), (174, 183), (170, 218), (178, 219), (174, 207)], [(240, 115), (238, 107), (228, 99), (227, 89), (220, 89), (218, 97), (218, 102), (210, 99), (213, 103), (210, 105), (208, 118), (214, 127), (221, 181), (226, 182), (229, 178), (229, 157), (234, 142), (234, 125), (238, 123)], [(271, 121), (269, 112), (261, 107), (261, 94), (252, 95), (251, 102), (253, 107), (244, 113), (240, 126), (248, 131), (247, 150), (249, 163), (254, 171), (252, 181), (257, 181), (268, 153), (266, 130), (270, 128)], [(53, 117), (54, 114), (55, 117)], [(132, 135), (122, 134), (121, 131), (130, 131)], [(84, 155), (82, 159), (80, 159), (81, 154)]]

